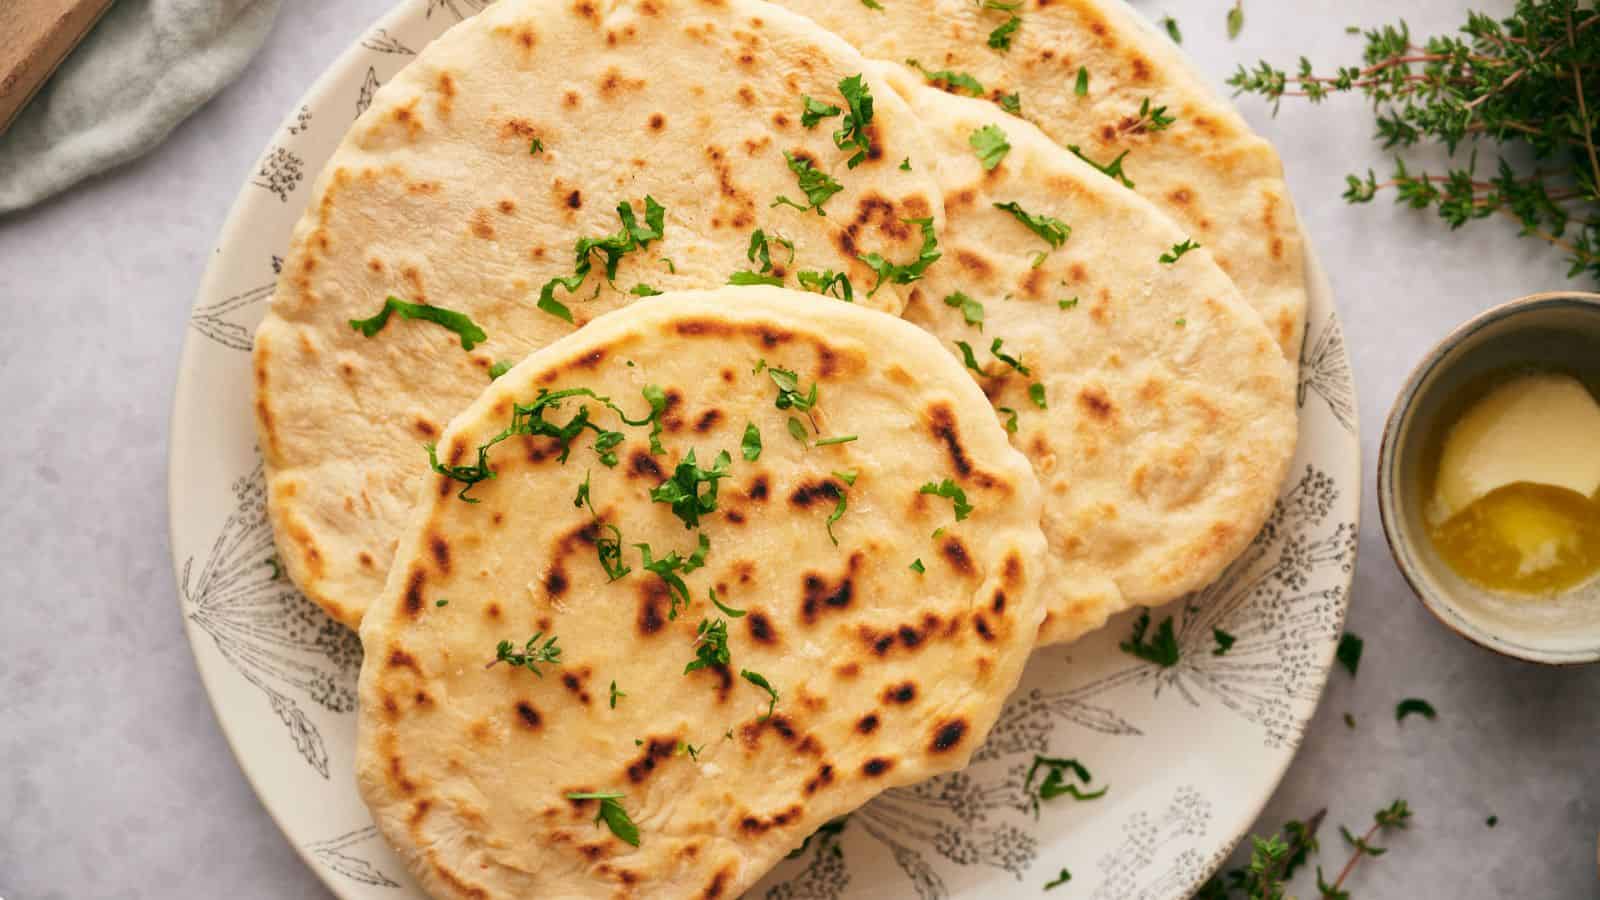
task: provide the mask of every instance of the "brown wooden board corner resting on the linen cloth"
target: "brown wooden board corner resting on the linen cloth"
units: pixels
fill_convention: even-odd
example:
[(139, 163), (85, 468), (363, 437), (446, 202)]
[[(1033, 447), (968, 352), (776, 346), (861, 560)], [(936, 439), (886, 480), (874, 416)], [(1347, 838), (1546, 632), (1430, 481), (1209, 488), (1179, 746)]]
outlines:
[(0, 0), (0, 135), (112, 0)]

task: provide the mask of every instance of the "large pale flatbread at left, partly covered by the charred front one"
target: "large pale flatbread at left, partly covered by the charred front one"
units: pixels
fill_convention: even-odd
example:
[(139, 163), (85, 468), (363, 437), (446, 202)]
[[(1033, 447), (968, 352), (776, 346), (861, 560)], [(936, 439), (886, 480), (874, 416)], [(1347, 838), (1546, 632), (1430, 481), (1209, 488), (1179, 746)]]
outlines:
[[(422, 444), (496, 360), (638, 299), (635, 285), (758, 272), (754, 229), (773, 235), (790, 285), (800, 269), (832, 269), (866, 288), (875, 279), (858, 255), (917, 259), (920, 227), (902, 219), (939, 224), (942, 211), (930, 173), (899, 168), (928, 155), (904, 104), (869, 77), (872, 152), (856, 168), (830, 136), (842, 115), (800, 123), (802, 96), (843, 107), (838, 83), (862, 70), (837, 37), (755, 0), (504, 0), (384, 85), (322, 173), (256, 335), (272, 525), (306, 596), (360, 621)], [(826, 215), (770, 207), (806, 202), (786, 151), (842, 186)], [(574, 272), (576, 240), (618, 232), (622, 202), (646, 223), (646, 195), (666, 210), (664, 235), (621, 258), (614, 287), (595, 251), (578, 290), (557, 288), (573, 323), (538, 309), (541, 287)], [(394, 315), (371, 338), (350, 328), (389, 295), (464, 312), (488, 336), (469, 352), (426, 320)], [(898, 312), (904, 288), (854, 299)]]

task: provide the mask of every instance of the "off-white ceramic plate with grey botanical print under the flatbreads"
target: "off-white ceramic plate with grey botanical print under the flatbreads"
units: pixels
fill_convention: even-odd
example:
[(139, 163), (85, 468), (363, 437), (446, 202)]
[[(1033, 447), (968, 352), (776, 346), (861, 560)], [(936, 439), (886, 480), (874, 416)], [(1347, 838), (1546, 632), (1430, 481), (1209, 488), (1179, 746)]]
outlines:
[[(250, 343), (309, 183), (373, 91), (483, 0), (410, 0), (306, 94), (222, 227), (184, 346), (171, 432), (171, 530), (200, 677), (261, 802), (346, 900), (421, 900), (355, 791), (362, 650), (277, 573), (250, 410)], [(1355, 562), (1355, 388), (1320, 267), (1299, 384), (1299, 452), (1278, 508), (1245, 556), (1173, 615), (1168, 669), (1117, 649), (1122, 617), (1042, 650), (974, 764), (890, 791), (838, 836), (811, 841), (749, 897), (978, 898), (1072, 871), (1056, 897), (1189, 895), (1254, 822), (1322, 693)], [(1160, 617), (1157, 617), (1160, 620)], [(1211, 655), (1211, 628), (1238, 642)], [(1070, 756), (1098, 801), (1035, 817), (1034, 754)]]

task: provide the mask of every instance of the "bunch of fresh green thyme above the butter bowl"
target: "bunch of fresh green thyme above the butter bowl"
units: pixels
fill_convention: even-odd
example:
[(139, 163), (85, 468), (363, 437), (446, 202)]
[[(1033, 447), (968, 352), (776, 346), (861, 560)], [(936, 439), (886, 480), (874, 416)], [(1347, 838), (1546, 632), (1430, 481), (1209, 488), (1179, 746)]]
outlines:
[[(1229, 85), (1274, 110), (1286, 96), (1322, 102), (1360, 91), (1384, 149), (1470, 149), (1466, 165), (1443, 171), (1414, 171), (1395, 154), (1387, 179), (1347, 176), (1344, 199), (1392, 191), (1451, 229), (1501, 215), (1518, 235), (1565, 251), (1568, 277), (1600, 280), (1600, 11), (1584, 0), (1518, 0), (1506, 19), (1469, 13), (1456, 35), (1418, 43), (1400, 22), (1363, 37), (1360, 66), (1317, 74), (1302, 58), (1291, 75), (1262, 61), (1240, 66)], [(1493, 173), (1478, 171), (1480, 151), (1498, 157)]]

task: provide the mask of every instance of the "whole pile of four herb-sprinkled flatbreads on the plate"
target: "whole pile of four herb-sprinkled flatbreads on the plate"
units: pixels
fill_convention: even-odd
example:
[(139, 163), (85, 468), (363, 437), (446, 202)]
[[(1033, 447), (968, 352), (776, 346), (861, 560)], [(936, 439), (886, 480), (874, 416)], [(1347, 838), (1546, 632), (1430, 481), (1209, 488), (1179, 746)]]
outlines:
[(1104, 0), (501, 0), (378, 91), (254, 402), (430, 894), (738, 897), (1222, 572), (1306, 295), (1198, 83)]

